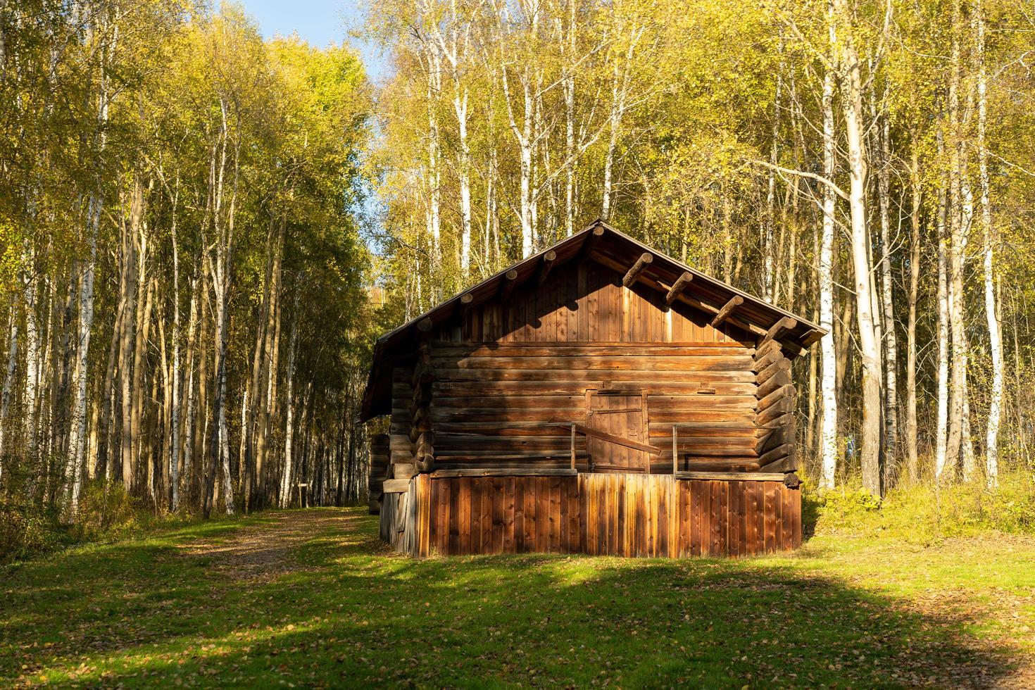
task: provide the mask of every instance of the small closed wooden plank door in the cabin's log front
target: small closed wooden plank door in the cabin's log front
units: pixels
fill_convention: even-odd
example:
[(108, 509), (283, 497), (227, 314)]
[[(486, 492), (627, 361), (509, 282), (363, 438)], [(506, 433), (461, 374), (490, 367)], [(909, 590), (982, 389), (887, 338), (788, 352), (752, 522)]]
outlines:
[[(593, 393), (588, 395), (586, 425), (620, 439), (649, 444), (647, 396), (643, 393)], [(612, 441), (588, 437), (592, 472), (648, 472), (650, 455)]]

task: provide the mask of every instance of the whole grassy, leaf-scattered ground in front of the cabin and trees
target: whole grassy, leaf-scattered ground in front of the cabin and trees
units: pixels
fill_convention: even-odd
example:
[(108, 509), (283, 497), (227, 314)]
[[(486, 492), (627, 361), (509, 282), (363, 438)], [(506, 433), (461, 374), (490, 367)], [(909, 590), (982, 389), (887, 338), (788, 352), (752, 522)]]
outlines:
[(0, 568), (0, 686), (1035, 687), (1035, 538), (417, 561), (365, 512)]

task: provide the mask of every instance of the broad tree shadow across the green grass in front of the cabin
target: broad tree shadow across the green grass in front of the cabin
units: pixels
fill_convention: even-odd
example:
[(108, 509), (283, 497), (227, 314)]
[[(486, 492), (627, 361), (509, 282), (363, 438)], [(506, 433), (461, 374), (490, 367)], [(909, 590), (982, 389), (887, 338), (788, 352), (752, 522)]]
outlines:
[(270, 581), (134, 544), (79, 554), (64, 586), (27, 565), (2, 584), (14, 618), (0, 624), (0, 683), (73, 673), (126, 686), (987, 687), (1014, 678), (1015, 650), (979, 641), (967, 621), (805, 576), (793, 560), (416, 561), (378, 550), (369, 522), (314, 534), (298, 554), (308, 569)]

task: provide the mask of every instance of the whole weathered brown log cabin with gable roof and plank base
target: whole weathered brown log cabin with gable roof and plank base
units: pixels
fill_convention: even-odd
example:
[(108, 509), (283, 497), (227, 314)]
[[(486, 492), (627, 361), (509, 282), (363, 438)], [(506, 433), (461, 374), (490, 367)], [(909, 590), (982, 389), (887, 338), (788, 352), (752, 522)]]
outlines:
[(378, 340), (381, 536), (414, 556), (794, 548), (791, 366), (823, 334), (594, 222)]

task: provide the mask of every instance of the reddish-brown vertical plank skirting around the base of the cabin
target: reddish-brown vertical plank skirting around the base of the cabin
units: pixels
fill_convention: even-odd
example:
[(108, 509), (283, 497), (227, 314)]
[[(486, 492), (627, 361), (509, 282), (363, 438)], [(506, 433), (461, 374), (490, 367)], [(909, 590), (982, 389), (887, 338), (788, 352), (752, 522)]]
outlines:
[(426, 557), (738, 557), (801, 545), (801, 492), (779, 481), (672, 475), (413, 478), (386, 493), (381, 538)]

